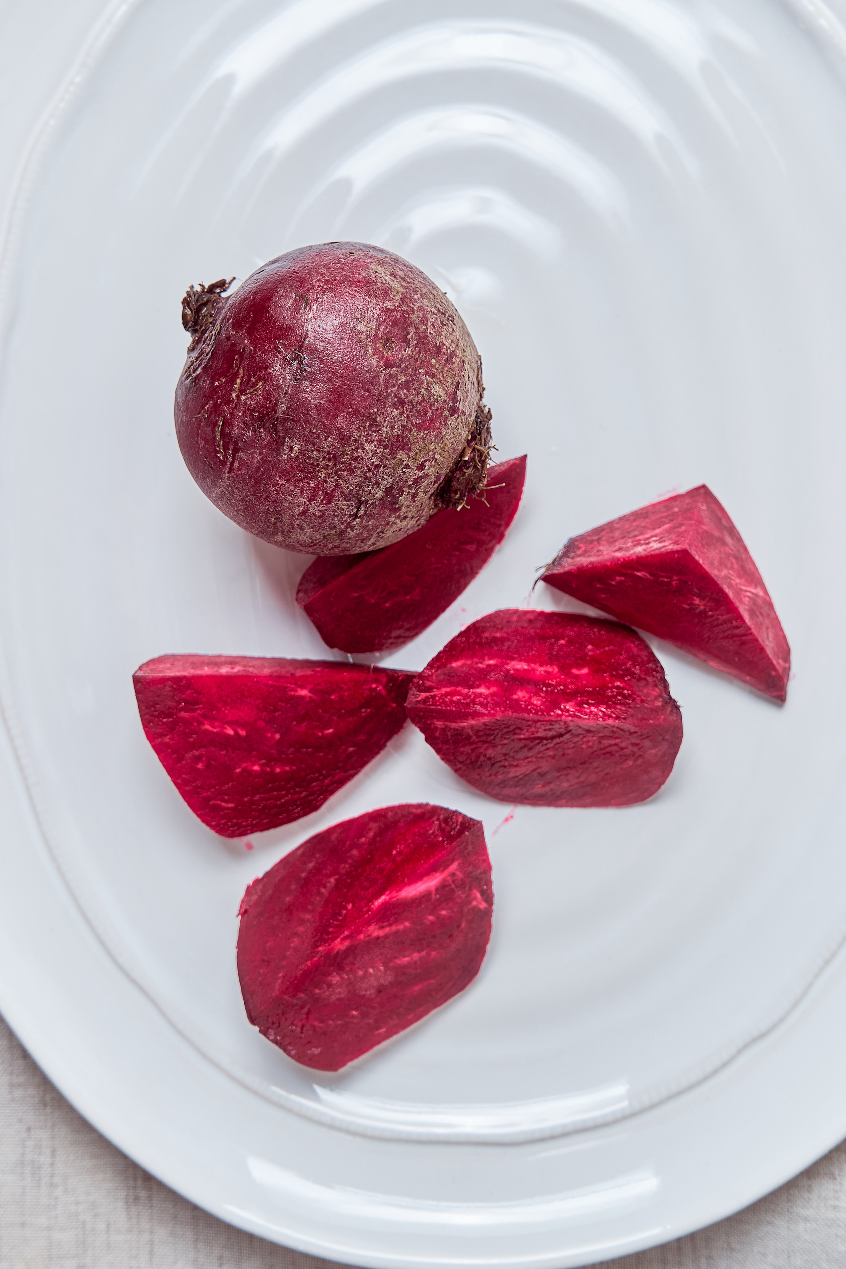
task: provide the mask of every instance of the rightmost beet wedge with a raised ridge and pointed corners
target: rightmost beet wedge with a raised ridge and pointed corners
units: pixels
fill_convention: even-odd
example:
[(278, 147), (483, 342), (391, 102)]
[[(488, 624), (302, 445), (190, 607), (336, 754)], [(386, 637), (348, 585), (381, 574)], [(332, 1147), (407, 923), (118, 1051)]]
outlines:
[(706, 485), (564, 544), (543, 580), (784, 700), (790, 647), (761, 574)]

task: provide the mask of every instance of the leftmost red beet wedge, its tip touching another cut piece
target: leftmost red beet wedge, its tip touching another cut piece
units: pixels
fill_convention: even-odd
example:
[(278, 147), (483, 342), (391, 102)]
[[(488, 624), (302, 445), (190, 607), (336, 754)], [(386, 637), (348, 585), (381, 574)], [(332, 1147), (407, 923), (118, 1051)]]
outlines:
[(384, 749), (413, 678), (337, 661), (159, 656), (132, 676), (145, 735), (203, 824), (240, 838), (299, 820)]

